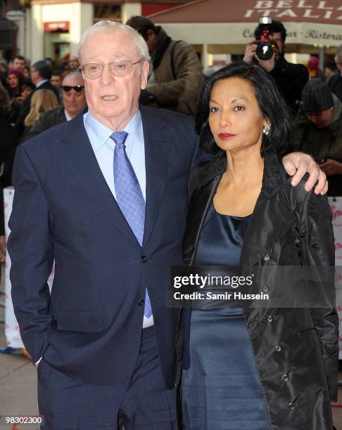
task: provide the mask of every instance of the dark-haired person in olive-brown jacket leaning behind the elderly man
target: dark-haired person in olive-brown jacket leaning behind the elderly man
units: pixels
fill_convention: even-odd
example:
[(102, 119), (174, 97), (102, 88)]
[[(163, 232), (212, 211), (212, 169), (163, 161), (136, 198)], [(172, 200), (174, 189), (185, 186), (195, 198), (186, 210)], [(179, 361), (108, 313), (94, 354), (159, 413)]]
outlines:
[(158, 105), (186, 115), (194, 115), (198, 93), (204, 81), (201, 63), (194, 48), (175, 41), (163, 27), (142, 16), (127, 21), (144, 37), (151, 56), (147, 91)]

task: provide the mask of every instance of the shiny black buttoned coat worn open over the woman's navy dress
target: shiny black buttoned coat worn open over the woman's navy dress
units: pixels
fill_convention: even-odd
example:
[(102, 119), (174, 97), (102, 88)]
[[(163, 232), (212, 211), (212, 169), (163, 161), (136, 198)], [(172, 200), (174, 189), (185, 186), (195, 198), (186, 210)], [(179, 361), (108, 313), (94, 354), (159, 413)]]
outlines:
[[(184, 235), (187, 265), (194, 264), (201, 227), (226, 167), (223, 154), (200, 164), (191, 174)], [(302, 180), (292, 187), (277, 155), (265, 157), (262, 190), (240, 261), (245, 274), (253, 271), (262, 280), (259, 291), (253, 293), (272, 294), (275, 286), (270, 266), (334, 266), (327, 197), (306, 192), (304, 183)], [(284, 294), (286, 282), (281, 282)], [(334, 282), (328, 288), (334, 289)], [(330, 401), (337, 400), (338, 370), (335, 308), (270, 308), (267, 302), (265, 308), (242, 306), (272, 430), (332, 430)], [(181, 319), (177, 334), (179, 363), (183, 337)]]

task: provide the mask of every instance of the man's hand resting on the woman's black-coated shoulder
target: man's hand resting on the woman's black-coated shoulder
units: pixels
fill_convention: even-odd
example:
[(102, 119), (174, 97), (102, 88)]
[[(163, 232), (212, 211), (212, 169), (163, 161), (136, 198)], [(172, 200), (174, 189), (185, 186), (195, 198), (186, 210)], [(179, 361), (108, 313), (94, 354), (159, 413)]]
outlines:
[(291, 184), (298, 185), (300, 179), (308, 172), (310, 178), (305, 183), (305, 190), (310, 191), (318, 180), (315, 194), (324, 195), (328, 190), (327, 175), (319, 169), (318, 164), (308, 154), (303, 152), (291, 152), (282, 159), (284, 169), (290, 176), (293, 176)]

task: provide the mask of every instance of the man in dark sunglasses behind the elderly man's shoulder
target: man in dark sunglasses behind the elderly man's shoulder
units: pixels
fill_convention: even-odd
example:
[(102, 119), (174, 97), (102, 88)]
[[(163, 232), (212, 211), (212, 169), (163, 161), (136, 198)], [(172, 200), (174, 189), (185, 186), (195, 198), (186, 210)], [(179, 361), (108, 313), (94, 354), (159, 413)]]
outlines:
[(45, 112), (26, 134), (24, 141), (52, 126), (70, 121), (87, 106), (84, 94), (84, 79), (80, 72), (70, 72), (63, 79), (63, 107), (58, 106)]

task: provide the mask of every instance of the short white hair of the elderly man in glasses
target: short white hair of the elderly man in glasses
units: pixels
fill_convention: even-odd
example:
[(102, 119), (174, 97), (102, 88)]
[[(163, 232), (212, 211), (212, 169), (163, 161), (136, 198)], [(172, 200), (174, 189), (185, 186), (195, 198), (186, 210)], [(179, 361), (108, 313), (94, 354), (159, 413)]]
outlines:
[(96, 24), (91, 25), (91, 27), (89, 27), (89, 29), (82, 34), (77, 50), (78, 59), (80, 60), (82, 56), (83, 45), (89, 39), (89, 37), (94, 36), (94, 34), (110, 34), (116, 31), (124, 32), (128, 34), (129, 37), (131, 37), (132, 43), (137, 49), (139, 60), (150, 60), (146, 41), (144, 41), (144, 38), (137, 32), (137, 30), (134, 30), (132, 27), (129, 27), (129, 25), (122, 24), (121, 22), (109, 20), (96, 22)]

